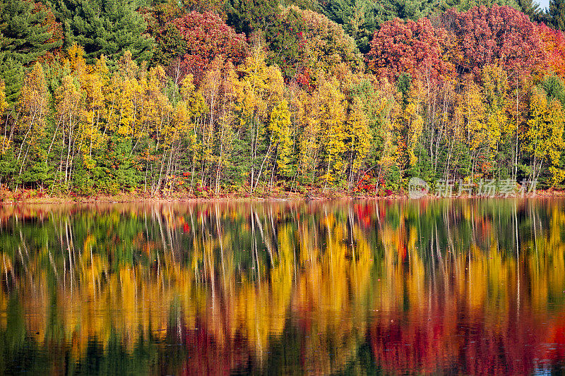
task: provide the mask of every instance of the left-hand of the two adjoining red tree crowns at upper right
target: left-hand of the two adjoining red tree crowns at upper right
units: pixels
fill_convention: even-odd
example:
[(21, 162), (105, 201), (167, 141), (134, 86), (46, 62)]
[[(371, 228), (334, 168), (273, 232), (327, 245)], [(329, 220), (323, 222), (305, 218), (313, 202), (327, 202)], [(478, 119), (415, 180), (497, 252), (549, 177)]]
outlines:
[(446, 38), (446, 31), (434, 28), (427, 18), (406, 23), (395, 18), (374, 33), (367, 66), (389, 80), (403, 72), (420, 80), (437, 79), (452, 71), (442, 59)]

